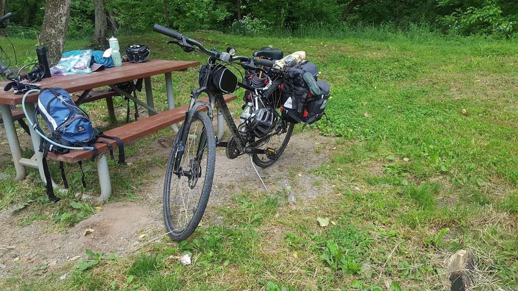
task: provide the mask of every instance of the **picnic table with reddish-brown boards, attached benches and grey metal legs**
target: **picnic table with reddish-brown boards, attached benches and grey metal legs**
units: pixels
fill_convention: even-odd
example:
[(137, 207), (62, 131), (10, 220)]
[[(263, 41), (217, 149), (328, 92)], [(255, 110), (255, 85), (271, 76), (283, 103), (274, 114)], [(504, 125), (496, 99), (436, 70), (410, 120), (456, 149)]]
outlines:
[[(41, 89), (44, 88), (63, 88), (69, 93), (82, 92), (79, 98), (75, 98), (77, 103), (85, 103), (87, 101), (94, 101), (98, 99), (106, 99), (108, 113), (114, 117), (114, 109), (111, 97), (114, 95), (121, 95), (127, 97), (139, 105), (148, 109), (149, 117), (141, 119), (136, 122), (128, 123), (117, 128), (113, 128), (105, 132), (110, 136), (117, 136), (122, 139), (124, 143), (136, 140), (142, 136), (149, 135), (157, 130), (167, 126), (174, 126), (175, 123), (183, 120), (185, 111), (188, 107), (182, 106), (175, 109), (174, 94), (172, 87), (171, 72), (185, 70), (189, 67), (199, 65), (199, 62), (191, 61), (165, 61), (165, 60), (151, 60), (146, 63), (133, 64), (123, 63), (121, 67), (108, 68), (102, 71), (92, 72), (91, 74), (77, 74), (67, 76), (54, 76), (52, 78), (42, 79), (39, 83)], [(167, 94), (168, 110), (158, 112), (154, 109), (153, 93), (151, 88), (151, 76), (165, 75), (165, 85)], [(144, 79), (146, 102), (143, 102), (131, 94), (119, 89), (116, 84), (128, 82), (137, 79)], [(0, 83), (0, 86), (5, 86), (5, 83)], [(112, 90), (97, 91), (92, 93), (95, 88), (109, 86)], [(2, 112), (2, 122), (6, 136), (9, 142), (9, 148), (12, 154), (12, 159), (16, 168), (16, 180), (20, 181), (25, 178), (25, 167), (37, 168), (40, 173), (41, 180), (46, 182), (45, 174), (42, 166), (42, 153), (39, 152), (40, 137), (30, 128), (31, 140), (34, 149), (32, 158), (23, 158), (21, 155), (20, 142), (15, 128), (15, 120), (23, 118), (23, 112), (20, 115), (20, 109), (11, 109), (12, 105), (20, 105), (22, 103), (23, 95), (14, 95), (12, 91), (0, 91), (0, 111)], [(225, 99), (232, 100), (235, 96), (225, 96)], [(35, 105), (38, 101), (38, 94), (30, 94), (25, 99), (27, 114), (31, 117), (35, 113)], [(27, 106), (28, 104), (32, 106)], [(221, 125), (220, 125), (221, 124)], [(221, 132), (220, 132), (221, 131)], [(221, 114), (218, 114), (218, 136), (223, 134), (223, 120)], [(109, 143), (114, 143), (113, 140), (107, 140)], [(101, 194), (99, 200), (105, 200), (111, 195), (111, 182), (108, 171), (108, 163), (106, 152), (108, 147), (104, 143), (96, 143), (98, 155), (96, 156), (97, 171), (99, 176)], [(91, 158), (92, 151), (70, 151), (68, 154), (55, 155), (48, 154), (49, 158), (58, 161), (75, 163), (84, 159)], [(53, 186), (56, 186), (52, 181)]]

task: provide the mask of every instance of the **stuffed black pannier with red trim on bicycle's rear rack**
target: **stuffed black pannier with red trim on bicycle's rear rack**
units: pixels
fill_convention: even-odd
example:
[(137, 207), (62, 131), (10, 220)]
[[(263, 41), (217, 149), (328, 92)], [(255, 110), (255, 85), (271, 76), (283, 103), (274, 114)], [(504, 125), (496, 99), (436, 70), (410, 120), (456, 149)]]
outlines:
[(329, 84), (317, 78), (318, 68), (311, 62), (301, 63), (284, 74), (282, 90), (286, 100), (281, 106), (284, 120), (312, 124), (323, 117)]

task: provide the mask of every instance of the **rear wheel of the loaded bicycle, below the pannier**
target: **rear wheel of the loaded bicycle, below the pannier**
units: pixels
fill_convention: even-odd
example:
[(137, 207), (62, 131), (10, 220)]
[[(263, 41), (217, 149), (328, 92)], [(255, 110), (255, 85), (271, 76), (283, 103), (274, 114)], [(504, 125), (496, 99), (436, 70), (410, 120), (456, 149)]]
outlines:
[(280, 120), (278, 121), (277, 126), (278, 128), (275, 129), (276, 133), (257, 147), (258, 149), (264, 150), (268, 148), (274, 149), (275, 153), (252, 155), (252, 161), (254, 164), (260, 166), (261, 168), (267, 168), (273, 165), (282, 155), (288, 142), (290, 141), (294, 124)]

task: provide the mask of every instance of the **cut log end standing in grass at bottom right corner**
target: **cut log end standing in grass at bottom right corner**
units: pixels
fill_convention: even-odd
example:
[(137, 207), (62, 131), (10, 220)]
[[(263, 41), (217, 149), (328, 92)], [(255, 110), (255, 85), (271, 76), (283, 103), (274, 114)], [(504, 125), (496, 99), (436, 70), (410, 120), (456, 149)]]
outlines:
[(473, 254), (459, 250), (445, 261), (452, 282), (451, 291), (467, 291), (473, 283), (476, 270)]

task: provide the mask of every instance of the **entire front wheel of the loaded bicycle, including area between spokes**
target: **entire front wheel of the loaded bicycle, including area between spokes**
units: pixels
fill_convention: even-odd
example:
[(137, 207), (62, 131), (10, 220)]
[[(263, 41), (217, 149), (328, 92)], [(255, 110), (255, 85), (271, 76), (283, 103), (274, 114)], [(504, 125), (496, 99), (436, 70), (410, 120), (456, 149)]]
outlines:
[[(182, 152), (179, 140), (183, 126), (189, 127), (189, 135)], [(175, 241), (188, 238), (202, 220), (216, 160), (214, 128), (206, 113), (196, 112), (192, 122), (182, 127), (169, 155), (164, 182), (164, 222), (167, 234)], [(180, 167), (174, 173), (178, 155)]]

